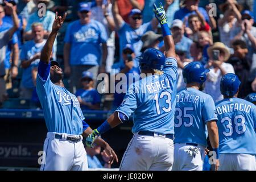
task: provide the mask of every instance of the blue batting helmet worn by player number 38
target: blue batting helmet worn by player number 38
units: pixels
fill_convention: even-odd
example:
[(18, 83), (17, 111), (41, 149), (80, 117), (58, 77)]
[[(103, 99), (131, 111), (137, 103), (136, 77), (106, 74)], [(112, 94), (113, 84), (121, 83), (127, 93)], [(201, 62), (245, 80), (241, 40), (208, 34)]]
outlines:
[(221, 78), (221, 94), (223, 96), (234, 96), (237, 93), (241, 81), (234, 73), (228, 73)]

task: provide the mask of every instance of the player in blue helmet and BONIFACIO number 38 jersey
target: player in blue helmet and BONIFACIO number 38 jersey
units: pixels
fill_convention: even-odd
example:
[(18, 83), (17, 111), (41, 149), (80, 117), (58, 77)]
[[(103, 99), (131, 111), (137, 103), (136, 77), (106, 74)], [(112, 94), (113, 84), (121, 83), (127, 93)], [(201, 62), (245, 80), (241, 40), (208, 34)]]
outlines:
[(224, 100), (216, 103), (220, 171), (256, 170), (256, 106), (237, 98), (240, 83), (233, 73), (221, 79)]

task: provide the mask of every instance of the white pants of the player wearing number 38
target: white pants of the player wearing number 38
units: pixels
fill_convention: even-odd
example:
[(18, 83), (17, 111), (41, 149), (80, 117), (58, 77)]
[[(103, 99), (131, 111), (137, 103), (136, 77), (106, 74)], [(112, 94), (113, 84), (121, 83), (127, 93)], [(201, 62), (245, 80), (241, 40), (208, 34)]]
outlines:
[(220, 154), (219, 171), (256, 171), (256, 156), (250, 154)]

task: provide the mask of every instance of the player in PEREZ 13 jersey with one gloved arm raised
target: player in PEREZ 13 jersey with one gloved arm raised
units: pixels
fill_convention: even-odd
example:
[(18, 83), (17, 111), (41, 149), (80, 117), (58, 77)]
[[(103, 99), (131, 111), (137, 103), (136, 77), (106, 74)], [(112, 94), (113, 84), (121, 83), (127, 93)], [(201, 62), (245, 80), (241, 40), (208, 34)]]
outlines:
[(144, 51), (139, 57), (139, 65), (147, 77), (129, 86), (118, 109), (86, 139), (90, 146), (95, 137), (129, 120), (133, 114), (134, 136), (123, 154), (120, 170), (166, 171), (172, 168), (174, 160), (175, 45), (163, 6), (154, 5), (154, 8), (162, 27), (166, 56), (154, 48)]

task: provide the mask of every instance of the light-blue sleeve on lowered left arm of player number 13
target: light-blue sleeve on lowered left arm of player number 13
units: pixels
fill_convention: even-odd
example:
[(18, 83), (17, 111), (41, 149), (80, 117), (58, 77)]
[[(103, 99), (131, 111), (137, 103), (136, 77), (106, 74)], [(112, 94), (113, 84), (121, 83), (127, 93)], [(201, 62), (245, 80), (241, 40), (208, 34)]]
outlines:
[(134, 112), (135, 109), (137, 109), (137, 93), (139, 92), (136, 82), (134, 84), (131, 84), (129, 86), (129, 89), (125, 95), (125, 98), (123, 98), (122, 103), (117, 108), (118, 112), (121, 112), (126, 115), (126, 117), (129, 119), (131, 114)]

